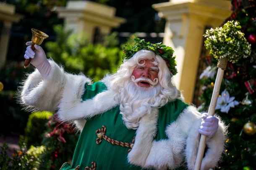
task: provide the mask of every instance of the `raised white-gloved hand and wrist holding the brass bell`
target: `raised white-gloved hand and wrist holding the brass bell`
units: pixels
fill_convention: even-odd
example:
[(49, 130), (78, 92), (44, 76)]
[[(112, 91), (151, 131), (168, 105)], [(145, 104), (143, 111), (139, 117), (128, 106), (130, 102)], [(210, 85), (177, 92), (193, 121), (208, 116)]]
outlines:
[(37, 70), (42, 75), (42, 78), (44, 79), (47, 75), (49, 75), (50, 71), (52, 70), (52, 67), (49, 63), (49, 61), (46, 58), (45, 52), (42, 49), (41, 46), (38, 46), (37, 44), (34, 44), (35, 51), (31, 49), (32, 42), (26, 42), (27, 48), (24, 55), (25, 59), (31, 58), (31, 64), (33, 64)]

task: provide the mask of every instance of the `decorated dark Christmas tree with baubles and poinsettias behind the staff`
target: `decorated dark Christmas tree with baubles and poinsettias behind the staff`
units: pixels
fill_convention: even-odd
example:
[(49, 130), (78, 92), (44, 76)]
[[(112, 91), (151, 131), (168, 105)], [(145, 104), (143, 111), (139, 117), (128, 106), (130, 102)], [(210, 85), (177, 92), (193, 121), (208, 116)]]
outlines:
[[(228, 137), (225, 154), (216, 169), (256, 170), (256, 0), (232, 0), (231, 6), (232, 14), (220, 27), (230, 21), (240, 23), (251, 53), (246, 56), (244, 50), (239, 50), (237, 53), (244, 53), (244, 57), (237, 62), (229, 60), (224, 72), (215, 113), (228, 125)], [(239, 45), (235, 44), (228, 53), (234, 53)], [(217, 60), (213, 52), (210, 54), (213, 55), (200, 76), (202, 110), (209, 107), (217, 75)]]

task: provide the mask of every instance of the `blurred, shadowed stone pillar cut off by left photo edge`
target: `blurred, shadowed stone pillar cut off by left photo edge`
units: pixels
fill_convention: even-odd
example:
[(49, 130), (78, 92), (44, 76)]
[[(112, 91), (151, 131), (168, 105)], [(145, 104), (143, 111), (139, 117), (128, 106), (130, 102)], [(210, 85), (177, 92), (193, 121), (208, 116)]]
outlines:
[(0, 2), (0, 67), (6, 61), (12, 23), (20, 21), (22, 15), (15, 14), (15, 6)]

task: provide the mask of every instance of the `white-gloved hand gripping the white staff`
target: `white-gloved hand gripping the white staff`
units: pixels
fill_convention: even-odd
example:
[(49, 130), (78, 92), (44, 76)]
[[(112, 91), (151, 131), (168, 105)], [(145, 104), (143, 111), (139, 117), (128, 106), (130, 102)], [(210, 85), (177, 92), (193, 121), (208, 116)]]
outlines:
[(219, 127), (219, 119), (214, 116), (208, 116), (208, 113), (203, 113), (199, 133), (207, 137), (213, 137)]

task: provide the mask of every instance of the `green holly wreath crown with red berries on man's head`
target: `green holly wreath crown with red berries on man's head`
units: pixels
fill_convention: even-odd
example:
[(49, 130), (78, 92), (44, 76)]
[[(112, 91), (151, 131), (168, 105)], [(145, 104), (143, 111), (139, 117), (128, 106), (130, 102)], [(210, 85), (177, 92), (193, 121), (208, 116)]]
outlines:
[(164, 60), (165, 63), (167, 64), (167, 67), (169, 68), (170, 72), (172, 75), (177, 74), (177, 69), (176, 69), (176, 61), (175, 61), (175, 55), (173, 55), (174, 50), (172, 47), (165, 46), (162, 44), (162, 42), (157, 43), (157, 44), (151, 44), (150, 42), (146, 42), (144, 39), (139, 39), (135, 38), (134, 39), (135, 43), (134, 46), (131, 46), (130, 44), (125, 44), (123, 49), (123, 56), (122, 59), (130, 59), (133, 57), (133, 55), (138, 52), (139, 50), (150, 50), (154, 52), (156, 55), (161, 56)]

